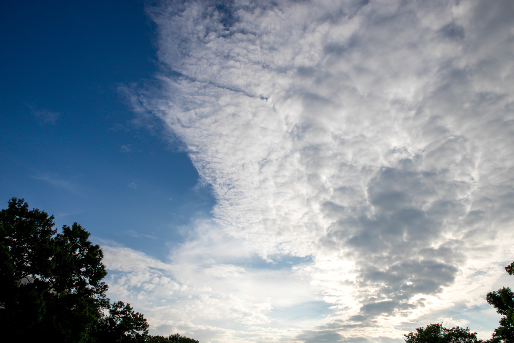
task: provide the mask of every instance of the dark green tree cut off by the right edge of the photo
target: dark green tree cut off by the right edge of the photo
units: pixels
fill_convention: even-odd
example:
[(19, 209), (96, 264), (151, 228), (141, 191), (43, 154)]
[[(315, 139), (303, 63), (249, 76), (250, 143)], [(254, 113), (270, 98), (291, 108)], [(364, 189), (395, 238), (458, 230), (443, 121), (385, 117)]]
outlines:
[[(509, 275), (514, 274), (514, 262), (505, 267)], [(514, 343), (514, 293), (510, 287), (487, 294), (487, 302), (503, 315), (500, 327), (492, 334), (493, 342)]]

